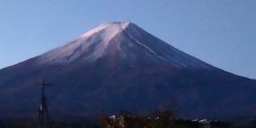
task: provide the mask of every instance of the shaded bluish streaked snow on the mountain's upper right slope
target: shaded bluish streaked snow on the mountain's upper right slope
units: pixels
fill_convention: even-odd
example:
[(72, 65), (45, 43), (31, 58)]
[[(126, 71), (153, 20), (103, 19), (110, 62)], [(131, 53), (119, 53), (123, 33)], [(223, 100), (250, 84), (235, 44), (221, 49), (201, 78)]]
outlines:
[(159, 58), (160, 61), (166, 61), (173, 67), (212, 68), (212, 66), (207, 63), (172, 47), (172, 45), (167, 44), (159, 38), (155, 38), (135, 24), (131, 24), (131, 26), (127, 27), (125, 33), (129, 38), (134, 40), (135, 43), (142, 46), (143, 49), (148, 50), (152, 56)]

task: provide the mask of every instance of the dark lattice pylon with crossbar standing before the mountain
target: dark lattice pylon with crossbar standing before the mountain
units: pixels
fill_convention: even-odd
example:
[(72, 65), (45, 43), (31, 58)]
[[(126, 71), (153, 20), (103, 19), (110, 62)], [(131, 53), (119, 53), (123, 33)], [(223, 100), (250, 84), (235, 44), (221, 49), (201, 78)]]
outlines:
[(50, 121), (49, 121), (49, 111), (48, 111), (48, 107), (47, 107), (47, 99), (45, 96), (45, 86), (50, 86), (52, 84), (46, 83), (44, 81), (44, 79), (42, 79), (41, 82), (38, 83), (38, 85), (41, 86), (41, 104), (38, 107), (38, 120), (39, 120), (39, 125), (41, 128), (43, 128), (44, 126), (44, 115), (46, 116), (46, 121), (49, 127), (51, 127), (50, 125)]

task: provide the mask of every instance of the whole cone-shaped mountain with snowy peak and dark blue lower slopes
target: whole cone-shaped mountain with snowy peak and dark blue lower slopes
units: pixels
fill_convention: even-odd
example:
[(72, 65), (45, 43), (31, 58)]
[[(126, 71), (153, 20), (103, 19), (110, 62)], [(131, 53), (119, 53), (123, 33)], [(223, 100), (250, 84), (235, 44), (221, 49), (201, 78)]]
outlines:
[[(256, 82), (187, 55), (131, 22), (102, 24), (0, 70), (1, 117), (36, 117), (45, 78), (52, 116), (172, 109), (184, 118), (256, 115)], [(170, 104), (171, 102), (171, 104)]]

